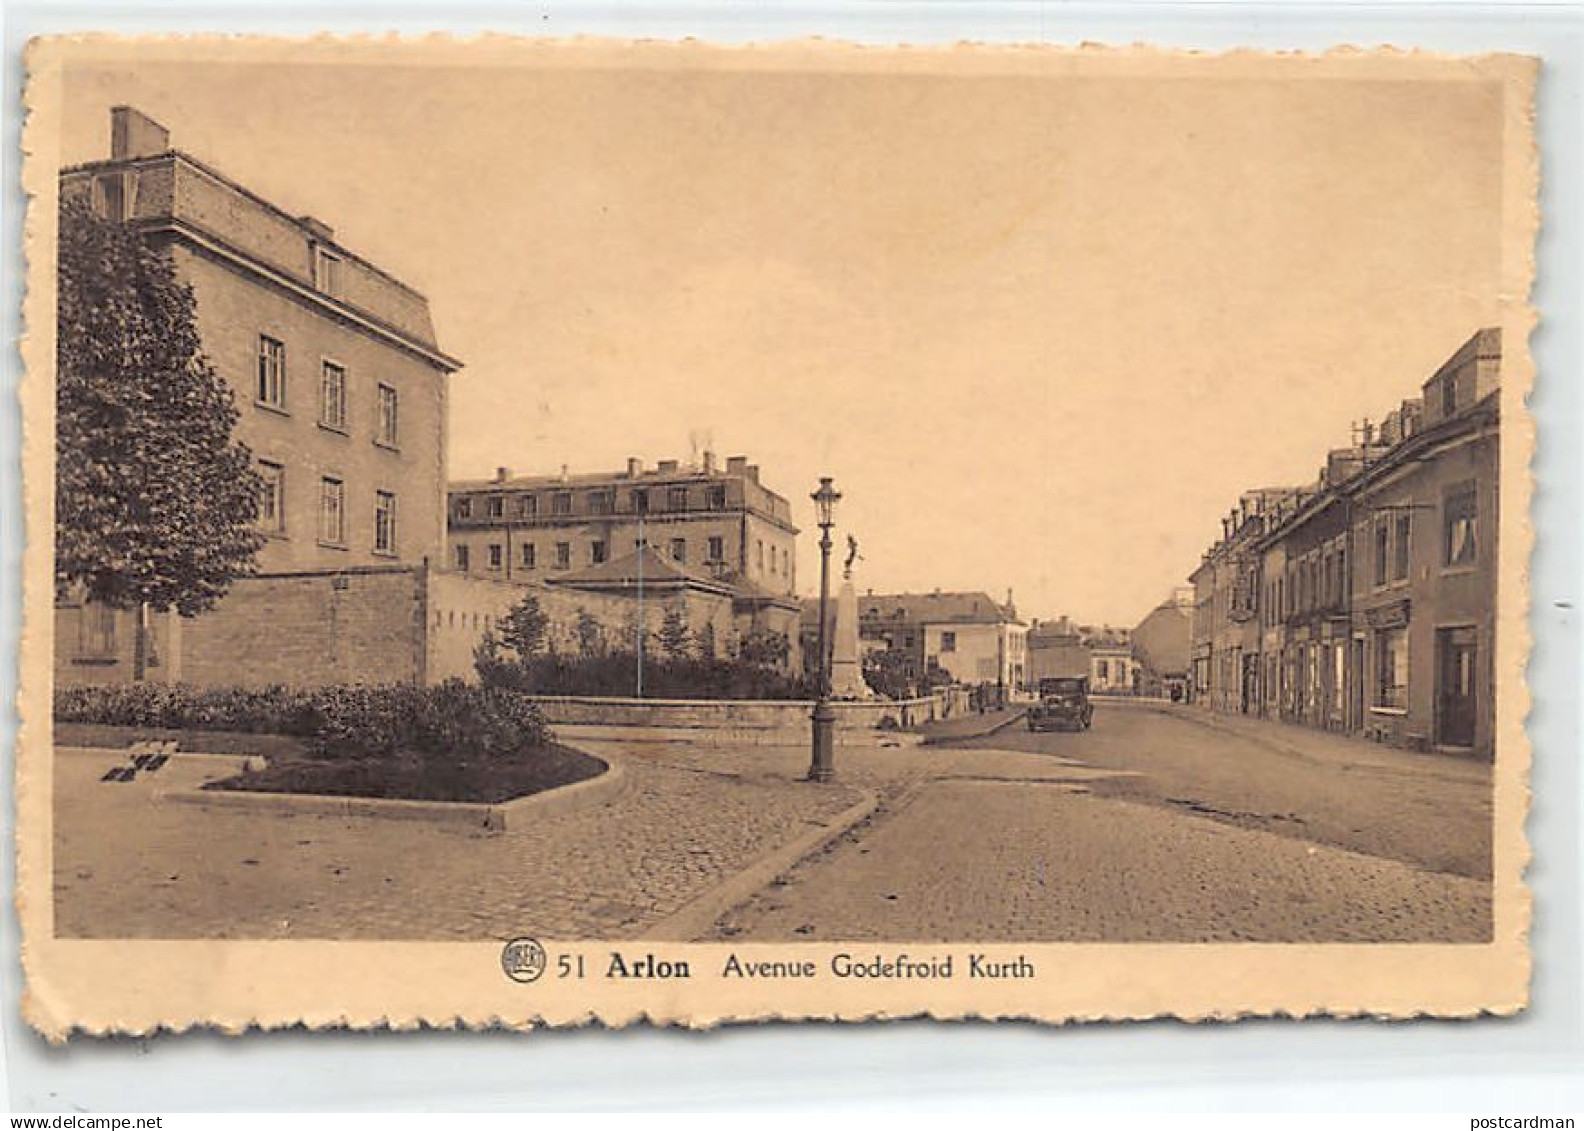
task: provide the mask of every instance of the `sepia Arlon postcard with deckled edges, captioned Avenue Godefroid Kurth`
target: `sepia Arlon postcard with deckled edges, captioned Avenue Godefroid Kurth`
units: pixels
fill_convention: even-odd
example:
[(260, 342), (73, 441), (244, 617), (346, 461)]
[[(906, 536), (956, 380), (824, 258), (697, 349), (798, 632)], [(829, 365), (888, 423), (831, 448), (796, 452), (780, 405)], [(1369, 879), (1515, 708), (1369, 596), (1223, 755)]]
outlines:
[(49, 1038), (1527, 1004), (1535, 60), (27, 62)]

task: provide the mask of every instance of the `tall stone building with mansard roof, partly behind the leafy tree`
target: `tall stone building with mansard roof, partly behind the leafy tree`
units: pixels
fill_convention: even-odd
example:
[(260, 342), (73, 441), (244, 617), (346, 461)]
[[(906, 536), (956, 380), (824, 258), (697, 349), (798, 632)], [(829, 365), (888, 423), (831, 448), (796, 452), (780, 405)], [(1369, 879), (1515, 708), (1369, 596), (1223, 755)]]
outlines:
[[(344, 618), (336, 662), (323, 627), (314, 642), (287, 632), (287, 610), (334, 624), (348, 578), (410, 572), (444, 551), (447, 377), (459, 363), (439, 348), (428, 301), (329, 225), (173, 149), (127, 106), (111, 111), (109, 158), (62, 169), (60, 193), (171, 257), (241, 410), (234, 436), (266, 483), (258, 575), (211, 613), (155, 618), (147, 678), (257, 683), (260, 670), (325, 662), (331, 675), (361, 672), (356, 657), (390, 626)], [(130, 616), (63, 602), (57, 681), (130, 678)]]

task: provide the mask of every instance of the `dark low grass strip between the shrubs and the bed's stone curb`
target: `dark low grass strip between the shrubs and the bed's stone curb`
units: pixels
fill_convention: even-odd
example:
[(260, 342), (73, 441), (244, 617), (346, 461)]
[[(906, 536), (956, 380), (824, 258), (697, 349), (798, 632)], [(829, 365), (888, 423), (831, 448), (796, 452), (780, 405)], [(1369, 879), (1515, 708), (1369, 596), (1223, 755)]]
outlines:
[(581, 751), (546, 743), (508, 759), (444, 764), (417, 754), (364, 759), (280, 759), (258, 773), (212, 781), (204, 789), (315, 797), (372, 797), (406, 802), (497, 805), (570, 786), (608, 767)]

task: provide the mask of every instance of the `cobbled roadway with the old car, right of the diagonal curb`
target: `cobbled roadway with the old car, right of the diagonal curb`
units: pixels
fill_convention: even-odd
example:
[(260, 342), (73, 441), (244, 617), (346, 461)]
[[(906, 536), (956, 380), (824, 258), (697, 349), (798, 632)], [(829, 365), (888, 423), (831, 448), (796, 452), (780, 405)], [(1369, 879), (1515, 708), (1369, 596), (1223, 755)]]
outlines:
[[(711, 938), (1475, 942), (1491, 933), (1489, 884), (1475, 878), (1489, 870), (1483, 767), (1357, 743), (1281, 748), (1133, 706), (1102, 708), (1087, 733), (1003, 732), (946, 756), (958, 760), (955, 776), (938, 768), (914, 783), (722, 916)], [(1019, 764), (1072, 776), (1011, 779)]]

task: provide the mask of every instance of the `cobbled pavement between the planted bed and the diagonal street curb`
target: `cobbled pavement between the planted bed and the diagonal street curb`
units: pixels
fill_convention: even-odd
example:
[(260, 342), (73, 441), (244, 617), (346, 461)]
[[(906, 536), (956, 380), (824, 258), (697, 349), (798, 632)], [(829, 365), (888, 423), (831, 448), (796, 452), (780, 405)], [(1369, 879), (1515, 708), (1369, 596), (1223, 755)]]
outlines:
[[(154, 798), (230, 770), (57, 757), (55, 930), (78, 938), (630, 938), (860, 800), (852, 787), (626, 762), (610, 805), (523, 832)], [(208, 762), (204, 759), (203, 762)]]

